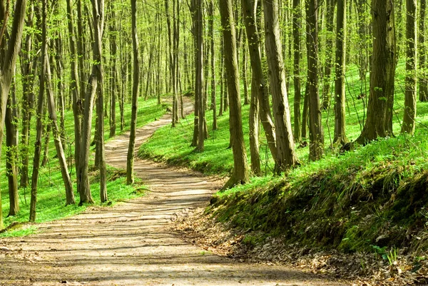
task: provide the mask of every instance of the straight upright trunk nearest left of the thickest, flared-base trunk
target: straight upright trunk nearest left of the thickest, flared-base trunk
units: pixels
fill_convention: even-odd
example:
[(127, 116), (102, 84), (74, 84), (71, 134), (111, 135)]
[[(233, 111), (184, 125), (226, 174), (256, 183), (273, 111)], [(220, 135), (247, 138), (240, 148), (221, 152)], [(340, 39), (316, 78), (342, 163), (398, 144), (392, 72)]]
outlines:
[(339, 145), (348, 142), (345, 129), (346, 0), (337, 0), (335, 80), (335, 138)]

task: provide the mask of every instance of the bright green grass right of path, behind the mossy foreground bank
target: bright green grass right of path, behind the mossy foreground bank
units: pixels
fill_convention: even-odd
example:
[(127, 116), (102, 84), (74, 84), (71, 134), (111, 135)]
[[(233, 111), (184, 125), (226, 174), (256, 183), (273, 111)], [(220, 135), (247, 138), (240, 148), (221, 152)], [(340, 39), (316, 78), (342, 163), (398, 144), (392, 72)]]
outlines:
[[(394, 133), (399, 134), (401, 129), (400, 122), (403, 117), (404, 106), (404, 62), (397, 66), (397, 77), (395, 81), (395, 104), (394, 104)], [(292, 81), (291, 81), (292, 83)], [(291, 84), (290, 83), (290, 84)], [(369, 79), (367, 78), (367, 85)], [(322, 86), (320, 87), (322, 88)], [(330, 93), (332, 92), (332, 86)], [(368, 88), (368, 86), (367, 86)], [(347, 138), (354, 141), (360, 135), (362, 126), (365, 121), (365, 106), (368, 98), (365, 96), (358, 99), (362, 88), (360, 76), (356, 66), (350, 66), (347, 69)], [(302, 84), (302, 90), (304, 85)], [(219, 93), (219, 91), (218, 91)], [(249, 91), (250, 93), (250, 91)], [(241, 88), (241, 97), (243, 98), (243, 88)], [(294, 87), (290, 85), (288, 92), (288, 101), (294, 101)], [(219, 94), (217, 94), (217, 110), (220, 108)], [(332, 148), (332, 137), (334, 136), (334, 111), (333, 103), (327, 111), (322, 112), (322, 123), (325, 132), (325, 153), (326, 157), (335, 155), (337, 148)], [(250, 148), (248, 138), (248, 118), (250, 106), (242, 106), (243, 133), (245, 145), (247, 146), (248, 162), (250, 162)], [(180, 121), (176, 128), (165, 126), (159, 129), (144, 143), (139, 155), (143, 158), (167, 162), (173, 165), (185, 165), (195, 170), (207, 174), (229, 175), (233, 169), (232, 150), (228, 149), (229, 145), (229, 117), (228, 111), (223, 116), (218, 117), (218, 130), (213, 131), (213, 112), (206, 111), (208, 121), (209, 138), (205, 141), (203, 153), (195, 153), (190, 143), (193, 138), (193, 115), (188, 116)], [(291, 122), (293, 123), (293, 113), (291, 112)], [(428, 103), (417, 103), (417, 128), (428, 126)], [(308, 131), (309, 134), (309, 131)], [(308, 139), (304, 139), (308, 140)], [(302, 165), (309, 163), (309, 148), (297, 148), (297, 157)], [(267, 148), (263, 128), (260, 124), (260, 163), (263, 173), (268, 175), (272, 173), (273, 162)]]

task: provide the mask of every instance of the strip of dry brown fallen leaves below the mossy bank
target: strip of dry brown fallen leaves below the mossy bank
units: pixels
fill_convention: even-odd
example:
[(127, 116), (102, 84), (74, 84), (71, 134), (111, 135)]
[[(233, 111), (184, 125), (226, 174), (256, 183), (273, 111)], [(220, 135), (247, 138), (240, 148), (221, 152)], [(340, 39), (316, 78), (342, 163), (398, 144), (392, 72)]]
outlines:
[(236, 230), (215, 218), (203, 215), (203, 208), (178, 214), (173, 229), (184, 240), (209, 249), (217, 255), (239, 261), (292, 265), (318, 274), (340, 277), (355, 286), (428, 285), (428, 253), (414, 257), (408, 250), (397, 250), (394, 260), (384, 260), (376, 252), (345, 254), (338, 251), (313, 251), (287, 244), (281, 237), (245, 243), (245, 235), (263, 237), (263, 233)]

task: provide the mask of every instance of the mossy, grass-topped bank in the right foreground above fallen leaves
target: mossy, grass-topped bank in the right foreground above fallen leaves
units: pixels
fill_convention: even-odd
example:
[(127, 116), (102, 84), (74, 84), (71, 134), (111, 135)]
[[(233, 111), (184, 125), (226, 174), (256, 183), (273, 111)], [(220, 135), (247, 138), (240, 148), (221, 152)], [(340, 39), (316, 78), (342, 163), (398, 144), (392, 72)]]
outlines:
[(295, 168), (286, 178), (254, 178), (215, 195), (206, 212), (311, 248), (427, 250), (427, 136), (381, 139)]

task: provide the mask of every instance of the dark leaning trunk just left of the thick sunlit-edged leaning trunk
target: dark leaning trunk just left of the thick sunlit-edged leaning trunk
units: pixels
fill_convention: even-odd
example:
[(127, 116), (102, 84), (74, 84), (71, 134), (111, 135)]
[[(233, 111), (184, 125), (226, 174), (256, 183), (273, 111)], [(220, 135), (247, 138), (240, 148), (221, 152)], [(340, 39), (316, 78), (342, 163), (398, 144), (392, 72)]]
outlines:
[[(251, 83), (251, 90), (257, 91), (258, 102), (260, 104), (260, 119), (262, 121), (263, 130), (267, 140), (272, 158), (277, 158), (277, 145), (275, 126), (270, 113), (269, 94), (265, 84), (265, 76), (263, 74), (262, 57), (260, 54), (260, 34), (258, 32), (258, 24), (255, 21), (255, 2), (253, 0), (241, 0), (243, 8), (245, 30), (247, 31), (248, 49), (250, 51), (250, 63), (253, 76), (256, 82)], [(252, 95), (253, 96), (253, 95)]]

